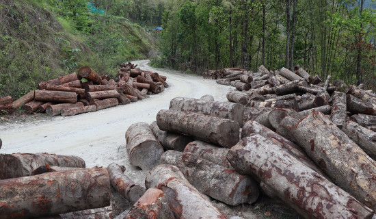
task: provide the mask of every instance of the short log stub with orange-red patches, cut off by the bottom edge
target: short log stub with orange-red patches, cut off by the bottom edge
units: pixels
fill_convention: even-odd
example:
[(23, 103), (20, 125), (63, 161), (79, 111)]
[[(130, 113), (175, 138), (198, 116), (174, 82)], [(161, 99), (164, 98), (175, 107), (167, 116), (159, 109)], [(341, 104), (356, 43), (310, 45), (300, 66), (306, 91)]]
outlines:
[(133, 205), (124, 219), (138, 218), (174, 219), (175, 217), (170, 210), (167, 195), (162, 190), (150, 188)]

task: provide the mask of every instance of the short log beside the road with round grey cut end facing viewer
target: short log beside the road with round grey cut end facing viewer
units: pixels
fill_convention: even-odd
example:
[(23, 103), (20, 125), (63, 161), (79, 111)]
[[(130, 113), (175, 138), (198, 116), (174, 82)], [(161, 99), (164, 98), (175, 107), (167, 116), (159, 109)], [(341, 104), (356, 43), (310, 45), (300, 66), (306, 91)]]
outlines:
[(163, 146), (155, 138), (148, 123), (135, 123), (125, 133), (126, 152), (133, 166), (150, 170), (159, 162)]

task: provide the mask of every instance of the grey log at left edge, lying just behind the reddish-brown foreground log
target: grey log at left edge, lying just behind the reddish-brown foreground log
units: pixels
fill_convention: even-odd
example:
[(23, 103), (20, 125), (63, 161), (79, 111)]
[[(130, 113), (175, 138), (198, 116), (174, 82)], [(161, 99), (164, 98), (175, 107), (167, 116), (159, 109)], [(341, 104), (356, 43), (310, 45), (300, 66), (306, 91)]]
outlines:
[(46, 164), (85, 168), (85, 162), (77, 156), (48, 153), (0, 154), (0, 179), (29, 176), (34, 169)]

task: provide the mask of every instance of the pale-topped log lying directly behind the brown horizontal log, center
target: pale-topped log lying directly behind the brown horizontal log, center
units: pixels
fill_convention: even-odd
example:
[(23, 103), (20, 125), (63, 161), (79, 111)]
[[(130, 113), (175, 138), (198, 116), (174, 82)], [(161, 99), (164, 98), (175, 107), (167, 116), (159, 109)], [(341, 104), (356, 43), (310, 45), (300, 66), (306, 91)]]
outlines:
[(170, 110), (196, 112), (208, 116), (228, 118), (243, 125), (244, 107), (239, 103), (200, 101), (186, 97), (176, 97), (170, 101)]

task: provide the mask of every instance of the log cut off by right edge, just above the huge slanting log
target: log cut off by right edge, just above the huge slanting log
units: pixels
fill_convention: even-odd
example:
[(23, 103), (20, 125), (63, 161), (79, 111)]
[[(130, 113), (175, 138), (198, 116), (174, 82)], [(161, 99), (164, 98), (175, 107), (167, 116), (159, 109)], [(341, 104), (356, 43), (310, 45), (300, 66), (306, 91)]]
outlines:
[(376, 160), (376, 132), (362, 127), (358, 123), (349, 121), (342, 128), (360, 148), (372, 159)]

